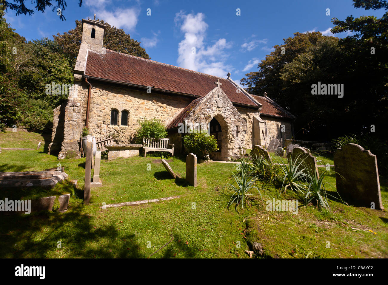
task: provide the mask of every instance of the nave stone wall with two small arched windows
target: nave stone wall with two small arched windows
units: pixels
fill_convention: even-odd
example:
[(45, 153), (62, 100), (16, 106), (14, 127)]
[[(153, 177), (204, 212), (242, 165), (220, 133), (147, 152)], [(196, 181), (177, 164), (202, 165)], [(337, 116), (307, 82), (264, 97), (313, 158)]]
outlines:
[[(182, 109), (189, 105), (191, 98), (176, 95), (147, 93), (120, 86), (111, 86), (88, 80), (92, 86), (89, 109), (89, 132), (96, 140), (114, 136), (116, 142), (133, 142), (139, 124), (138, 119), (158, 118), (167, 125)], [(85, 125), (88, 85), (83, 82), (78, 88), (82, 100), (81, 128)], [(118, 111), (117, 125), (111, 125), (111, 111)], [(128, 125), (121, 125), (121, 112), (128, 112)]]

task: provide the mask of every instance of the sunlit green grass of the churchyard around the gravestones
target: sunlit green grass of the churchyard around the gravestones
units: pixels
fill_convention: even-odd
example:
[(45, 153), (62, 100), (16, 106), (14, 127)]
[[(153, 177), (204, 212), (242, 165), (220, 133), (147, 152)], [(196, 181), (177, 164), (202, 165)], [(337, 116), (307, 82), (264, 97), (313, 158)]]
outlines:
[[(68, 180), (53, 189), (0, 190), (0, 199), (33, 199), (70, 193), (65, 213), (15, 214), (2, 212), (0, 257), (106, 258), (144, 257), (249, 258), (245, 252), (253, 242), (262, 244), (264, 258), (386, 258), (388, 214), (386, 211), (347, 206), (329, 200), (331, 211), (306, 206), (295, 192), (280, 192), (278, 186), (263, 185), (281, 200), (299, 200), (298, 213), (266, 211), (258, 196), (250, 206), (225, 209), (223, 186), (232, 183), (237, 164), (197, 164), (198, 187), (187, 185), (185, 161), (168, 158), (182, 178), (172, 179), (160, 157), (102, 157), (102, 187), (92, 188), (90, 204), (83, 205), (85, 159), (63, 159), (48, 155), (44, 138), (36, 133), (0, 133), (0, 146), (40, 150), (2, 150), (0, 172), (42, 171), (64, 166)], [(322, 157), (322, 164), (334, 164)], [(322, 173), (325, 168), (319, 168)], [(93, 173), (93, 170), (92, 170)], [(70, 180), (78, 180), (76, 188)], [(324, 182), (335, 187), (329, 172)], [(383, 205), (388, 205), (388, 183), (380, 176)], [(327, 188), (328, 193), (334, 191)], [(262, 193), (264, 193), (262, 191)], [(179, 195), (179, 199), (140, 206), (111, 207), (104, 204), (156, 199)], [(170, 242), (170, 240), (172, 241)], [(61, 247), (57, 245), (61, 244)], [(328, 246), (329, 245), (329, 246)], [(253, 257), (260, 257), (256, 254)]]

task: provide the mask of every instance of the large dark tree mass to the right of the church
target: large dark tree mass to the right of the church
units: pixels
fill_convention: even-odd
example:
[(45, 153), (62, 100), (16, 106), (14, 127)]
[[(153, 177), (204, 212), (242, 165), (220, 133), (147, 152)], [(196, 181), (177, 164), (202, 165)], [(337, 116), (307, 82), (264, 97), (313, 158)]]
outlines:
[[(388, 9), (385, 0), (353, 0), (354, 7)], [(388, 12), (345, 21), (333, 19), (333, 33), (295, 33), (258, 64), (258, 71), (241, 79), (246, 90), (268, 93), (297, 118), (296, 138), (330, 141), (349, 133), (370, 133), (387, 140)], [(285, 54), (281, 54), (281, 47)], [(344, 96), (312, 95), (312, 84), (343, 84)], [(372, 125), (375, 132), (372, 133)]]

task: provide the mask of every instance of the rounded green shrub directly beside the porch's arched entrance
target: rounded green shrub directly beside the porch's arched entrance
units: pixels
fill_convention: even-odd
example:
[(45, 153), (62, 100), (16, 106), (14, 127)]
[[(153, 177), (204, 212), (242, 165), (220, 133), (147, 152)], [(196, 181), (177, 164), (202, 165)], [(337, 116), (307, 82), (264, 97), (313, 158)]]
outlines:
[(191, 133), (183, 138), (183, 145), (188, 152), (197, 155), (198, 158), (206, 159), (210, 152), (218, 150), (217, 139), (206, 133)]

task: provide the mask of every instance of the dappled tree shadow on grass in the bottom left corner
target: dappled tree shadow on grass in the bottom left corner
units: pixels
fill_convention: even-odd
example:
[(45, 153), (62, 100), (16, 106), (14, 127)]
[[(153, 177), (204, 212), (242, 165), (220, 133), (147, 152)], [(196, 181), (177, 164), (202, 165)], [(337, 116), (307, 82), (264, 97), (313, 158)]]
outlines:
[[(0, 216), (0, 258), (55, 257), (53, 251), (57, 257), (147, 257), (139, 251), (133, 234), (119, 233), (114, 223), (95, 228), (90, 218), (80, 205), (66, 213)], [(62, 248), (57, 247), (58, 242)]]

